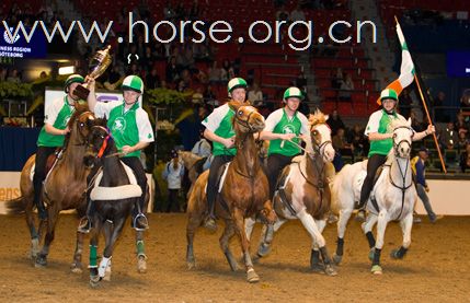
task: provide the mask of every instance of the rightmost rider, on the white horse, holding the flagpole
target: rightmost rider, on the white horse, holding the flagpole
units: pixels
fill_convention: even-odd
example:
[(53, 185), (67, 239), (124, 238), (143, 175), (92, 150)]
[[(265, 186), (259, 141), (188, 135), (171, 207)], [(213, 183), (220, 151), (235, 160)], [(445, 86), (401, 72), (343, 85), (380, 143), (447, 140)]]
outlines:
[[(398, 104), (398, 93), (396, 90), (385, 89), (380, 93), (380, 103), (382, 108), (370, 115), (364, 132), (369, 138), (370, 150), (368, 154), (369, 160), (367, 161), (367, 176), (364, 179), (360, 190), (360, 200), (357, 206), (359, 209), (357, 217), (362, 220), (365, 219), (365, 206), (372, 190), (377, 170), (386, 163), (387, 155), (393, 148), (393, 129), (391, 129), (391, 123), (396, 119), (405, 120), (405, 118), (396, 110)], [(429, 125), (425, 131), (415, 133), (413, 136), (413, 141), (421, 140), (433, 132), (435, 132), (435, 128)]]

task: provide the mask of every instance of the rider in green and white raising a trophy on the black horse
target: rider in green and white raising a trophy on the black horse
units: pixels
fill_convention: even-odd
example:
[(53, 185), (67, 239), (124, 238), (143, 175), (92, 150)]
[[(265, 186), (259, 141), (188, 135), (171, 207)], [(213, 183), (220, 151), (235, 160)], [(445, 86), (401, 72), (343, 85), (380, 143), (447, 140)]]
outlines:
[[(89, 83), (94, 89), (94, 80), (89, 79)], [(131, 221), (133, 228), (141, 231), (148, 229), (148, 221), (142, 213), (147, 193), (147, 176), (140, 162), (140, 153), (150, 142), (153, 142), (153, 130), (147, 113), (138, 103), (139, 97), (144, 93), (142, 80), (137, 75), (128, 75), (123, 81), (122, 90), (124, 102), (101, 103), (96, 102), (96, 98), (89, 98), (89, 106), (98, 116), (108, 117), (107, 127), (116, 142), (117, 149), (124, 153), (121, 161), (133, 168), (137, 184), (142, 189), (139, 203), (134, 208)], [(99, 167), (93, 167), (89, 176), (89, 183), (98, 171)], [(90, 202), (89, 195), (87, 195), (87, 202), (88, 214), (85, 218), (82, 218), (79, 226), (79, 231), (83, 233), (90, 232), (92, 228), (89, 218), (93, 212), (93, 203)]]

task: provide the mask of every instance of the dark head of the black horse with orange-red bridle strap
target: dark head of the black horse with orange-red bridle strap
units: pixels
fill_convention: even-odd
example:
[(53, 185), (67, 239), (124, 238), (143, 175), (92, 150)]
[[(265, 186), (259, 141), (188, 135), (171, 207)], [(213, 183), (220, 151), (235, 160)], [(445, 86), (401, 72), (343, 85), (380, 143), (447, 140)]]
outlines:
[(110, 130), (106, 128), (106, 118), (98, 118), (93, 123), (89, 123), (90, 132), (87, 137), (88, 149), (83, 156), (83, 163), (88, 167), (93, 166), (96, 161), (100, 161), (103, 155), (110, 153), (112, 149)]

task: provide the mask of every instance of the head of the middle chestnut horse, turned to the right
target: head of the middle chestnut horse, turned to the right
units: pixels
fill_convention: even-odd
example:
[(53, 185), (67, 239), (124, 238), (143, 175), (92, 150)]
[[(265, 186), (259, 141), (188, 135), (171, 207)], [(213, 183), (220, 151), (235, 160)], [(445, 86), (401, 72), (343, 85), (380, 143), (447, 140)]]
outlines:
[(264, 117), (251, 105), (231, 101), (230, 108), (236, 113), (233, 129), (236, 132), (254, 133), (264, 129)]

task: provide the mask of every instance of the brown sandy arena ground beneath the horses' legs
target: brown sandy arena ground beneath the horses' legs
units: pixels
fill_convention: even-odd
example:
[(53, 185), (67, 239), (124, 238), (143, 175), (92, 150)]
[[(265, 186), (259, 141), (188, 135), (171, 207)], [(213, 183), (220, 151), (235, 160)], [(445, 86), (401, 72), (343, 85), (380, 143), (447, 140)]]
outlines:
[[(147, 233), (148, 272), (138, 273), (134, 232), (128, 228), (113, 256), (112, 281), (89, 287), (88, 270), (71, 273), (77, 219), (62, 214), (47, 268), (35, 268), (27, 258), (26, 223), (21, 215), (0, 215), (0, 298), (3, 302), (339, 302), (425, 301), (469, 302), (470, 218), (446, 217), (436, 224), (415, 224), (412, 246), (403, 260), (389, 252), (401, 244), (401, 231), (391, 223), (382, 253), (382, 276), (369, 272), (367, 241), (359, 224), (351, 221), (339, 276), (309, 271), (310, 240), (299, 222), (280, 229), (272, 254), (255, 265), (261, 281), (245, 282), (243, 270), (232, 272), (218, 246), (218, 235), (199, 229), (196, 234), (197, 268), (185, 264), (185, 214), (150, 214)], [(219, 226), (222, 223), (219, 223)], [(260, 228), (254, 231), (253, 247)], [(330, 253), (334, 252), (335, 225), (325, 230)], [(87, 238), (88, 241), (88, 238)], [(103, 242), (101, 242), (103, 243)], [(239, 242), (233, 241), (239, 254)], [(102, 246), (100, 247), (102, 252)], [(88, 249), (84, 253), (88, 264)]]

